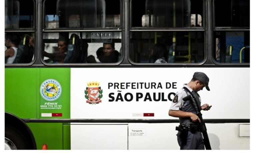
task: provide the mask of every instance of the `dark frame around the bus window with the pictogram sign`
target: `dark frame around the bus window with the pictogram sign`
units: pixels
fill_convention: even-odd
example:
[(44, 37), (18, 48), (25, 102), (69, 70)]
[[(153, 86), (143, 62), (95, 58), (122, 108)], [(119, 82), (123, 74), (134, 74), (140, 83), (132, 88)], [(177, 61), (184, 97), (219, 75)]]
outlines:
[[(40, 52), (40, 61), (43, 65), (45, 66), (49, 66), (49, 67), (90, 67), (90, 66), (117, 66), (120, 65), (125, 57), (125, 47), (123, 44), (125, 44), (125, 40), (124, 40), (124, 14), (125, 14), (125, 10), (124, 10), (124, 0), (119, 0), (120, 1), (120, 27), (108, 27), (108, 28), (44, 28), (45, 26), (45, 1), (44, 0), (42, 3), (42, 27), (40, 30), (41, 33), (50, 33), (50, 32), (121, 32), (121, 59), (116, 62), (116, 63), (59, 63), (59, 64), (54, 64), (54, 63), (46, 63), (43, 60), (43, 56), (42, 56), (42, 52)], [(43, 45), (43, 36), (40, 37), (40, 47), (42, 48)]]

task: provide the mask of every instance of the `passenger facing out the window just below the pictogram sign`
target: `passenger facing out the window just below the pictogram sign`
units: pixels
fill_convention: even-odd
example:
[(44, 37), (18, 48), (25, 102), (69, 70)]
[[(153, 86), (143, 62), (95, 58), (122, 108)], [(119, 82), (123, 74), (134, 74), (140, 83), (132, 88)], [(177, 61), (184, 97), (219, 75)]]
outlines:
[(103, 43), (102, 63), (118, 62), (119, 52), (115, 50), (115, 43)]

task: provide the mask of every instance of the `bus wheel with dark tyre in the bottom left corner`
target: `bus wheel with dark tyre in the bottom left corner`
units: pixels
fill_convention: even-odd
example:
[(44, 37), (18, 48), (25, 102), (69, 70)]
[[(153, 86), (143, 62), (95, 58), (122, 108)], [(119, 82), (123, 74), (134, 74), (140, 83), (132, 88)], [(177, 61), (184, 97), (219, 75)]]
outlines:
[(18, 128), (5, 125), (5, 150), (29, 149), (26, 137)]

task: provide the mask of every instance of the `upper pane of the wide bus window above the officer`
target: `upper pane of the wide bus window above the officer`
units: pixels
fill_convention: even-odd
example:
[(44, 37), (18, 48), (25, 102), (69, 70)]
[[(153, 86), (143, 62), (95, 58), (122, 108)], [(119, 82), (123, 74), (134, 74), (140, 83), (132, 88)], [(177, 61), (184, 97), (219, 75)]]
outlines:
[(132, 1), (132, 27), (200, 27), (202, 16), (202, 0)]

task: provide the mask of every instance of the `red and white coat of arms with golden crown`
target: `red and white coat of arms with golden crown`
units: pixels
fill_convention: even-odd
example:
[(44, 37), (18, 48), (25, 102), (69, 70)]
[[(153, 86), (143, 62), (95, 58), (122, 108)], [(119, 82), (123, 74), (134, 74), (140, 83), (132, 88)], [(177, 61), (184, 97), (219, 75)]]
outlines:
[(86, 90), (84, 91), (85, 93), (85, 98), (87, 99), (86, 103), (89, 104), (98, 104), (101, 102), (102, 98), (102, 92), (103, 90), (99, 86), (99, 82), (89, 82), (87, 83), (88, 87), (86, 87)]

